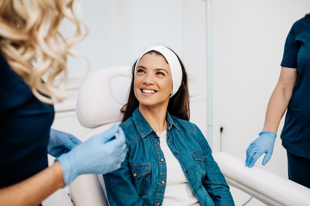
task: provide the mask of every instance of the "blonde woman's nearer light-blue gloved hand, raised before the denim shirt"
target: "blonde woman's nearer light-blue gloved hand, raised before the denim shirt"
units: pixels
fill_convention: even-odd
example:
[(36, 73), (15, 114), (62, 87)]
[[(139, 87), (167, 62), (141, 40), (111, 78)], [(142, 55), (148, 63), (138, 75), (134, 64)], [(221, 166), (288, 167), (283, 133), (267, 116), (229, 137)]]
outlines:
[[(118, 138), (114, 138), (115, 133), (118, 133)], [(121, 127), (114, 125), (58, 158), (64, 182), (68, 185), (80, 174), (105, 174), (117, 170), (121, 167), (125, 150), (124, 132)]]

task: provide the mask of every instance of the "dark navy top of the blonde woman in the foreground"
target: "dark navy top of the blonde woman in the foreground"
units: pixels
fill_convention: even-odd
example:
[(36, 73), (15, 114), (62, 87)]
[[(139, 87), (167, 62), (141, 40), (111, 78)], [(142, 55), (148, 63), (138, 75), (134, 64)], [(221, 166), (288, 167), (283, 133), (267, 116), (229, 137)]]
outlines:
[(33, 96), (0, 54), (0, 188), (48, 166), (47, 143), (53, 105)]

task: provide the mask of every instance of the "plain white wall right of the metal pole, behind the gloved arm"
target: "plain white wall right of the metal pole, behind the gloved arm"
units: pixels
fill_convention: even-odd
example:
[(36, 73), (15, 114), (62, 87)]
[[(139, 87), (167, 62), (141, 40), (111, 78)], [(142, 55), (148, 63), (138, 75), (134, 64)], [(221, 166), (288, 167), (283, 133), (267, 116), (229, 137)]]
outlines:
[[(214, 0), (214, 147), (245, 159), (246, 148), (263, 129), (270, 95), (280, 75), (284, 43), (292, 24), (310, 11), (308, 0)], [(265, 169), (287, 177), (281, 129)], [(261, 165), (260, 158), (256, 165)]]

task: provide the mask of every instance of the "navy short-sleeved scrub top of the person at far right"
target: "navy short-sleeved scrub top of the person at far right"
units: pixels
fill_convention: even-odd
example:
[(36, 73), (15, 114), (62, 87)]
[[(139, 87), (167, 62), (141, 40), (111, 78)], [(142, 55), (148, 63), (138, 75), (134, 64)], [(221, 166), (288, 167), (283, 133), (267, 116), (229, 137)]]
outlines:
[(292, 26), (281, 66), (296, 68), (298, 73), (281, 133), (282, 145), (294, 155), (310, 158), (310, 16)]

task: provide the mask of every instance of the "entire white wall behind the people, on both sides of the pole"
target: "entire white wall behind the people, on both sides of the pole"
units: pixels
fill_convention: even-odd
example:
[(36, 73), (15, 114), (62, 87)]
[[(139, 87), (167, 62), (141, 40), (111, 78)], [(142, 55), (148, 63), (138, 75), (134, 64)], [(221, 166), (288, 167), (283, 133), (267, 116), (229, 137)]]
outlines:
[[(280, 74), (286, 36), (292, 24), (310, 12), (310, 1), (212, 0), (211, 6), (212, 150), (220, 151), (219, 131), (223, 127), (222, 151), (245, 159), (246, 148), (263, 128), (268, 100)], [(187, 67), (191, 96), (200, 97), (191, 121), (206, 134), (205, 1), (88, 0), (82, 1), (82, 11), (91, 34), (75, 49), (91, 62), (90, 72), (131, 65), (150, 45), (160, 43), (175, 50)], [(71, 78), (85, 71), (76, 60), (70, 59), (69, 67)], [(72, 126), (67, 119), (66, 124), (60, 123), (66, 115), (58, 112), (54, 127), (81, 136), (78, 131), (83, 130), (77, 124)], [(283, 120), (272, 158), (262, 167), (287, 178), (286, 150), (280, 139)], [(261, 166), (261, 161), (256, 165)]]

